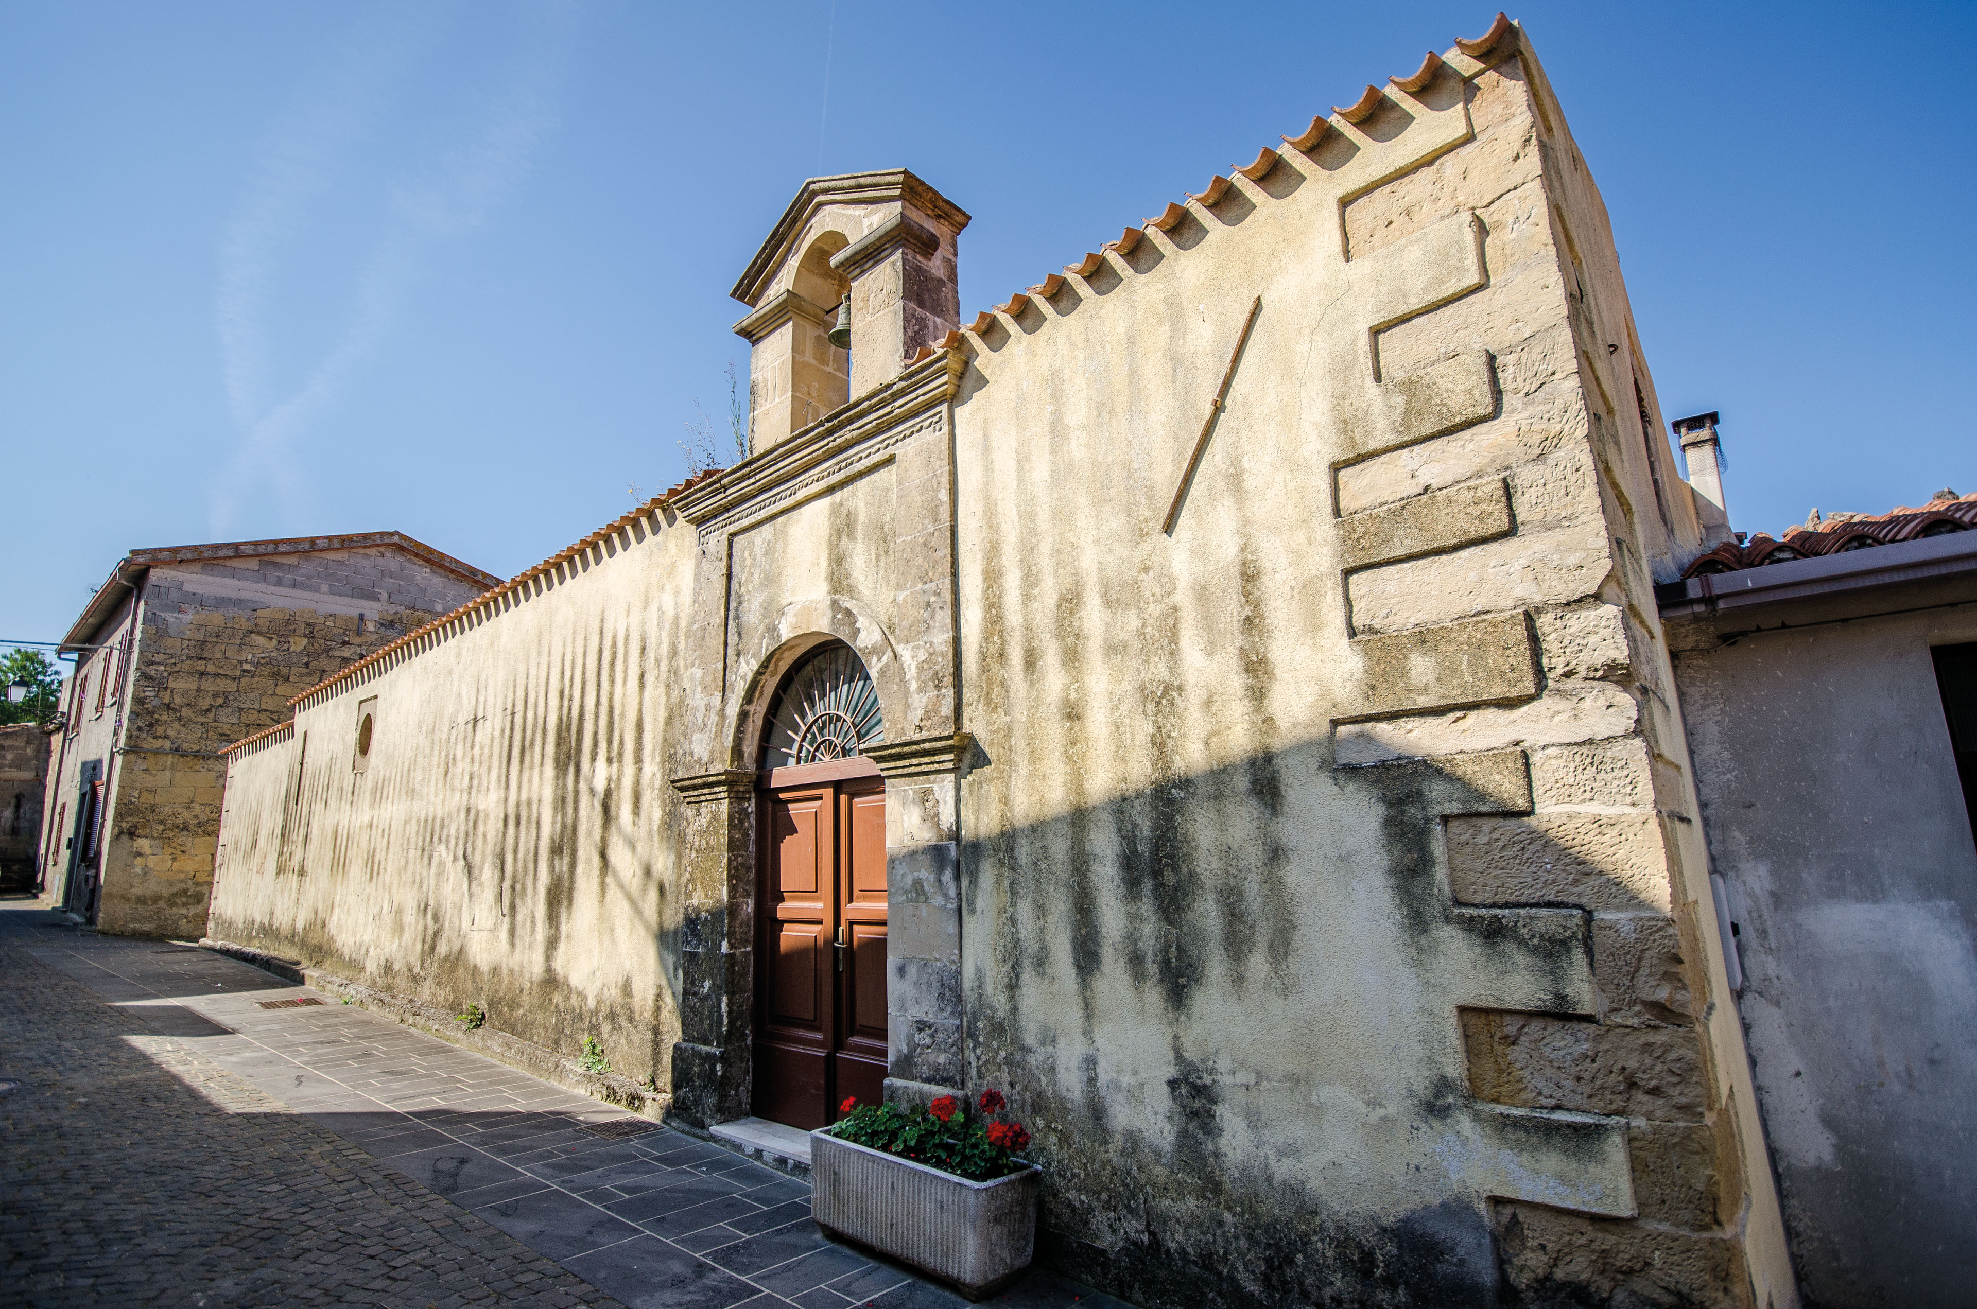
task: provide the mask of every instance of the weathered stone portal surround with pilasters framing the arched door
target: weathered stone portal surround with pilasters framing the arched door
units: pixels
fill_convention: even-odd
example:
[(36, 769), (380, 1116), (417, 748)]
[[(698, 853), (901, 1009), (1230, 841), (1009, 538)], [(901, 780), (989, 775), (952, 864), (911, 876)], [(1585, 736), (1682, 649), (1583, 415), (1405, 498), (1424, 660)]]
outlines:
[[(698, 556), (688, 714), (674, 755), (680, 854), (680, 1040), (674, 1109), (745, 1117), (755, 1003), (755, 765), (767, 698), (818, 641), (858, 651), (886, 716), (868, 749), (886, 777), (888, 1099), (953, 1090), (963, 1072), (957, 777), (953, 395), (965, 360), (937, 352), (894, 382), (672, 500)], [(892, 467), (890, 575), (866, 593), (775, 595), (773, 621), (735, 619), (733, 538)], [(870, 482), (866, 482), (870, 484)]]

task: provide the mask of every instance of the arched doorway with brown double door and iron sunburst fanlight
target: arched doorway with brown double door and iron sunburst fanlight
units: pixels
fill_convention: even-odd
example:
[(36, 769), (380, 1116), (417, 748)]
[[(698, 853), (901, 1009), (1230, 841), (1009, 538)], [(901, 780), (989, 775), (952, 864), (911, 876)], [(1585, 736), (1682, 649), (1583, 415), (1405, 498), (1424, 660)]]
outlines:
[(886, 1088), (886, 740), (878, 692), (842, 643), (783, 678), (763, 730), (755, 878), (753, 1111), (836, 1119)]

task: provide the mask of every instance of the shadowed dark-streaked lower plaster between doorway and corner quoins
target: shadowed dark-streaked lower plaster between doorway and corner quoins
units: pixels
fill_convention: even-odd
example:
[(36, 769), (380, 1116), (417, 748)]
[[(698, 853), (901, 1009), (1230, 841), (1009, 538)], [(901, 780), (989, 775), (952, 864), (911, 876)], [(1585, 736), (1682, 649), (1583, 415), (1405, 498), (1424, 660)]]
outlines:
[[(1149, 1305), (1495, 1305), (1491, 1196), (1631, 1216), (1619, 1119), (1469, 1091), (1457, 1008), (1597, 1008), (1586, 910), (1451, 894), (1449, 827), (1532, 807), (1522, 749), (1016, 785), (969, 783), (969, 1078), (1036, 1135), (1060, 1271)], [(1018, 805), (1058, 817), (996, 823)], [(1536, 830), (1514, 854), (1607, 880)]]

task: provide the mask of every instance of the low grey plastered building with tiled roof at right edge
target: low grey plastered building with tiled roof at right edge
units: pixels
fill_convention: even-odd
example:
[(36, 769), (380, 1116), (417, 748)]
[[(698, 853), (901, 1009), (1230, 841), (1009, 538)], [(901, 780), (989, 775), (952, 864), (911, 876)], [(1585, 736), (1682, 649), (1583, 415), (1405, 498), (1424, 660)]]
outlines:
[(1805, 1301), (1977, 1301), (1977, 496), (1661, 589)]

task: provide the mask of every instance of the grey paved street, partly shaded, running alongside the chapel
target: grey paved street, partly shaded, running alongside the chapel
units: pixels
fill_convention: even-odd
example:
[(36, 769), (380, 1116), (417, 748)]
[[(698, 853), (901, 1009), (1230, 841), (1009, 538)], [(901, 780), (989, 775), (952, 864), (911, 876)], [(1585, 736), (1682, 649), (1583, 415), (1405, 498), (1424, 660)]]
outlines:
[[(18, 904), (18, 902), (16, 902)], [(320, 1004), (261, 1008), (269, 1001)], [(210, 951), (0, 904), (0, 1305), (951, 1309), (809, 1186)], [(611, 1127), (605, 1127), (611, 1131)], [(1125, 1309), (1034, 1273), (996, 1301)]]

